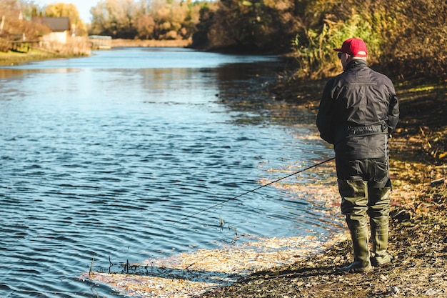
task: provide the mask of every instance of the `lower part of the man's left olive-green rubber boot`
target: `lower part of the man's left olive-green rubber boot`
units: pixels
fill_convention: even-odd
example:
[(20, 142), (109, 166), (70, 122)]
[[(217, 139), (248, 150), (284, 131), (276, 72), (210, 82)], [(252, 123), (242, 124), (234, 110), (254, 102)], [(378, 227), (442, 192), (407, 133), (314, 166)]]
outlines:
[(358, 222), (351, 222), (348, 219), (349, 231), (351, 232), (352, 245), (354, 250), (354, 262), (347, 267), (342, 267), (341, 272), (368, 272), (373, 267), (369, 259), (368, 247), (368, 227), (366, 224), (358, 226)]

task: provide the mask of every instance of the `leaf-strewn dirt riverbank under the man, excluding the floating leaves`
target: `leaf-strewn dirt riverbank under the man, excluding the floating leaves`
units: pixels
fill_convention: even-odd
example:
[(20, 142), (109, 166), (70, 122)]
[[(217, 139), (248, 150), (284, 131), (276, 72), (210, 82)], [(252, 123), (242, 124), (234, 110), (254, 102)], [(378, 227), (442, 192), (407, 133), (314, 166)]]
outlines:
[[(318, 106), (323, 81), (274, 88), (276, 98)], [(346, 239), (321, 254), (256, 272), (201, 297), (447, 297), (447, 89), (421, 80), (396, 83), (401, 121), (391, 140), (393, 192), (389, 252), (368, 274), (341, 274), (352, 262)]]

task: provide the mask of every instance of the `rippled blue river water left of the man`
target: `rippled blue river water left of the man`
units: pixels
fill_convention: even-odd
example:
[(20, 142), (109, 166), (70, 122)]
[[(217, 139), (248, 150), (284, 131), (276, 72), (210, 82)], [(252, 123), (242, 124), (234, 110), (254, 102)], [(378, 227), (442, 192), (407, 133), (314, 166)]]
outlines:
[(79, 279), (93, 258), (107, 270), (109, 259), (211, 249), (236, 229), (327, 234), (318, 207), (275, 187), (189, 217), (288, 174), (268, 169), (330, 157), (294, 137), (314, 129), (290, 124), (305, 111), (278, 121), (255, 94), (281, 67), (274, 56), (116, 49), (0, 69), (0, 297), (116, 297)]

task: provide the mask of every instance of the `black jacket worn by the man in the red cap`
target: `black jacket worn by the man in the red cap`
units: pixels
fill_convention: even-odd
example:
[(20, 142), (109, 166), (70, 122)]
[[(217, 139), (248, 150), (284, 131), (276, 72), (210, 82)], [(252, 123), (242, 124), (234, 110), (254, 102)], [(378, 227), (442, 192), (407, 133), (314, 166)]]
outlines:
[(334, 145), (337, 157), (386, 157), (388, 134), (396, 128), (399, 107), (393, 83), (353, 60), (324, 88), (316, 125), (321, 138)]

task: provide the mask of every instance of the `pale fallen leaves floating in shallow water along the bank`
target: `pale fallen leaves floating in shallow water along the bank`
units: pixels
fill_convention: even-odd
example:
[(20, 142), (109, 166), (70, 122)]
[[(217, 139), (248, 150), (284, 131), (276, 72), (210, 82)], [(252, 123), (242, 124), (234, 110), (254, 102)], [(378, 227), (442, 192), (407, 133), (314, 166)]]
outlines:
[[(316, 171), (330, 176), (334, 174), (331, 164), (321, 166)], [(259, 183), (265, 185), (269, 181), (261, 180)], [(292, 195), (309, 197), (308, 202), (315, 205), (324, 217), (326, 213), (333, 214), (338, 209), (332, 200), (336, 189), (328, 187), (326, 183), (313, 179), (311, 185), (307, 184), (306, 187), (293, 183), (275, 184), (275, 187)], [(331, 211), (323, 212), (322, 209)], [(119, 294), (136, 297), (201, 297), (207, 292), (231, 287), (258, 272), (270, 270), (272, 265), (291, 266), (348, 239), (344, 227), (340, 227), (335, 219), (332, 224), (323, 237), (257, 238), (241, 234), (235, 238), (234, 244), (147, 259), (139, 264), (121, 263), (121, 272), (89, 272), (81, 278), (105, 284)], [(237, 242), (239, 238), (241, 243)]]

